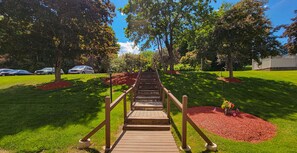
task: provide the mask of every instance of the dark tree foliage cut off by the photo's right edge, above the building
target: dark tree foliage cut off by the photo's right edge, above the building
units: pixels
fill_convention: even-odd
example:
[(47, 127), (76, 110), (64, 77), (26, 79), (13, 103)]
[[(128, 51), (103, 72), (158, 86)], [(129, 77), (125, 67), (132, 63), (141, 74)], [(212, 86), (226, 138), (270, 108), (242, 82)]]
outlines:
[(283, 37), (288, 37), (288, 42), (285, 48), (290, 54), (297, 54), (297, 10), (295, 10), (296, 17), (292, 18), (293, 21), (290, 25), (283, 25), (285, 31)]

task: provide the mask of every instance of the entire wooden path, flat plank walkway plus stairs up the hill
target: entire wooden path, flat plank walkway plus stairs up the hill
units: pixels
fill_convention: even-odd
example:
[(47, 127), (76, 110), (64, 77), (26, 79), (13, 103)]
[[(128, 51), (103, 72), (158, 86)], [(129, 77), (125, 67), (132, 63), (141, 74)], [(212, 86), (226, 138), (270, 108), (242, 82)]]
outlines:
[(155, 72), (143, 72), (123, 127), (123, 133), (111, 149), (113, 153), (178, 153), (163, 111)]

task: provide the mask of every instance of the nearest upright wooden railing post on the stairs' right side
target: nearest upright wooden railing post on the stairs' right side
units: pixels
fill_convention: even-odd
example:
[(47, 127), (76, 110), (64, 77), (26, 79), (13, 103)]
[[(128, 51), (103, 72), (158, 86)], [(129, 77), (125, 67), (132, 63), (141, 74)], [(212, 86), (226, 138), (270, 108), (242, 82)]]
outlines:
[(190, 151), (190, 147), (187, 145), (187, 105), (188, 105), (188, 97), (183, 95), (182, 98), (182, 149), (185, 151)]

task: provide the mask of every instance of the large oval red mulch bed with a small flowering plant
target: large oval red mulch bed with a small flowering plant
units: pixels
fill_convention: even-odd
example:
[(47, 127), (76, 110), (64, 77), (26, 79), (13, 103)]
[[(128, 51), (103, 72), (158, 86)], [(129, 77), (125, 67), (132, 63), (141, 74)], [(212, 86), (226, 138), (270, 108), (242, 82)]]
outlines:
[(202, 106), (189, 108), (188, 115), (199, 127), (236, 141), (257, 143), (276, 135), (275, 125), (243, 112), (226, 116), (221, 108)]

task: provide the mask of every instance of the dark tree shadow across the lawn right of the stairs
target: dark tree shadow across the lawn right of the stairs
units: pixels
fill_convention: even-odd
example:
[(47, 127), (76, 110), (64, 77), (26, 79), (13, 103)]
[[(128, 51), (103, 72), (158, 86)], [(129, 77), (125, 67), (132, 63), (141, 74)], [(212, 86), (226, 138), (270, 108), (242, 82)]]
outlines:
[[(179, 75), (162, 74), (167, 89), (181, 100), (187, 95), (188, 107), (220, 107), (223, 99), (232, 101), (241, 111), (263, 119), (285, 118), (297, 113), (297, 86), (291, 82), (239, 77), (241, 83), (225, 83), (217, 75), (203, 72), (184, 72)], [(173, 109), (173, 114), (177, 113)]]

